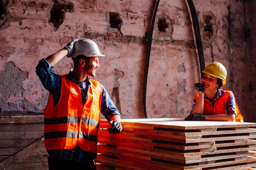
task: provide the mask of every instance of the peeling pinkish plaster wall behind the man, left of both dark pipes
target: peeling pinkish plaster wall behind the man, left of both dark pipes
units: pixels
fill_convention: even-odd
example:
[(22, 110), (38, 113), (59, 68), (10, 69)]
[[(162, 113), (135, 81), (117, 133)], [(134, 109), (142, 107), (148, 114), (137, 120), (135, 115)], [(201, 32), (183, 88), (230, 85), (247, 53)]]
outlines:
[[(65, 5), (68, 2), (58, 3)], [(9, 86), (4, 82), (6, 77), (0, 77), (1, 84), (4, 84), (1, 86), (0, 96), (7, 94), (1, 100), (0, 108), (42, 112), (47, 104), (48, 92), (35, 73), (38, 61), (60, 50), (70, 40), (89, 38), (97, 42), (101, 52), (106, 55), (100, 59), (101, 68), (95, 79), (101, 81), (115, 101), (113, 87), (116, 78), (113, 71), (117, 69), (124, 72), (124, 76), (118, 80), (123, 117), (143, 118), (141, 106), (146, 55), (145, 33), (150, 25), (153, 2), (89, 0), (72, 3), (74, 10), (65, 13), (63, 23), (58, 28), (49, 20), (54, 6), (50, 0), (16, 0), (4, 4), (8, 12), (0, 22), (1, 75), (8, 71), (6, 64), (10, 61), (28, 75), (18, 79), (18, 82), (11, 78), (13, 85), (20, 84), (13, 92), (7, 92), (6, 87)], [(123, 26), (120, 30), (110, 28), (109, 12), (116, 12), (121, 16)], [(54, 72), (68, 73), (72, 65), (72, 60), (64, 58), (55, 65)], [(14, 105), (11, 102), (17, 95), (11, 94), (16, 93), (20, 95)]]

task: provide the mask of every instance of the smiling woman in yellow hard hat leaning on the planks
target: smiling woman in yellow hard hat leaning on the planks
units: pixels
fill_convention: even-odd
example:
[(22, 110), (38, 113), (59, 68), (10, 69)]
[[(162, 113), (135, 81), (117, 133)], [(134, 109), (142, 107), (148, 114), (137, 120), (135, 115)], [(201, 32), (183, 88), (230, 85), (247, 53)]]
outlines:
[(226, 84), (226, 68), (213, 62), (202, 72), (202, 84), (195, 84), (198, 94), (194, 97), (192, 111), (184, 120), (243, 122), (233, 92), (220, 89)]

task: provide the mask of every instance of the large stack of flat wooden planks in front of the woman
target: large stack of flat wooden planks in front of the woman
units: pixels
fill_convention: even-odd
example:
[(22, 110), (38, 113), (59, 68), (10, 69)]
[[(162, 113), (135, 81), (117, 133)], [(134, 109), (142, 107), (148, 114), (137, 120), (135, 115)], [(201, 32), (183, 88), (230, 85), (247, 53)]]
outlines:
[(112, 135), (100, 121), (97, 170), (254, 170), (256, 124), (123, 119)]

